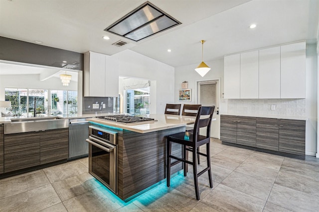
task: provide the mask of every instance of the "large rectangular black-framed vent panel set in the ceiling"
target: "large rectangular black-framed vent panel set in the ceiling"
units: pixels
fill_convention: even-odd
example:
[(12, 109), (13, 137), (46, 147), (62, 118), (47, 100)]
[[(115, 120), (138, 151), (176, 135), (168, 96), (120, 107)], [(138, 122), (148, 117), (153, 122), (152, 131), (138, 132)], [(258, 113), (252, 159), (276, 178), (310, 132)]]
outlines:
[(140, 41), (181, 24), (149, 1), (125, 15), (105, 31)]

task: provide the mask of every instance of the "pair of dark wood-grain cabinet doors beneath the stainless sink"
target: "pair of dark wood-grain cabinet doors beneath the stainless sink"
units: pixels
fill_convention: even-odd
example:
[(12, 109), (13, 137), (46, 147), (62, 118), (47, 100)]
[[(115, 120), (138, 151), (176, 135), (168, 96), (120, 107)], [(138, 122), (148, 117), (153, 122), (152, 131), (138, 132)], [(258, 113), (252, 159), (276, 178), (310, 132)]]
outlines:
[(67, 159), (68, 141), (68, 128), (4, 135), (4, 172)]

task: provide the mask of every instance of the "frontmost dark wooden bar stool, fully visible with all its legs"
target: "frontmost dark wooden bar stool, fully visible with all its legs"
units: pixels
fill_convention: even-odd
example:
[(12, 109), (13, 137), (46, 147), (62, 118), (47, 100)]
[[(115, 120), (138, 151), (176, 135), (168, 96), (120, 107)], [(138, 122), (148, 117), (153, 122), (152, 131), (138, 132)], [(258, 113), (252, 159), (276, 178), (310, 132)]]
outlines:
[[(213, 117), (215, 106), (211, 107), (200, 107), (196, 116), (194, 130), (190, 132), (181, 132), (176, 133), (170, 136), (167, 136), (167, 145), (166, 145), (166, 182), (167, 187), (170, 186), (170, 167), (178, 164), (179, 162), (183, 163), (184, 176), (186, 176), (186, 163), (193, 166), (194, 174), (194, 187), (196, 200), (199, 200), (199, 190), (198, 190), (198, 177), (204, 172), (208, 172), (209, 186), (213, 188), (213, 181), (211, 177), (211, 167), (210, 167), (210, 124)], [(202, 117), (204, 116), (204, 118)], [(208, 116), (208, 117), (207, 117)], [(199, 129), (207, 127), (206, 136), (199, 135)], [(181, 158), (171, 155), (171, 143), (179, 143), (183, 146)], [(196, 149), (206, 144), (206, 154), (196, 151)], [(191, 147), (191, 148), (189, 148)], [(186, 157), (186, 151), (192, 152), (192, 161), (189, 161)], [(203, 155), (207, 158), (207, 168), (197, 173), (197, 154)], [(177, 160), (171, 163), (171, 158)]]

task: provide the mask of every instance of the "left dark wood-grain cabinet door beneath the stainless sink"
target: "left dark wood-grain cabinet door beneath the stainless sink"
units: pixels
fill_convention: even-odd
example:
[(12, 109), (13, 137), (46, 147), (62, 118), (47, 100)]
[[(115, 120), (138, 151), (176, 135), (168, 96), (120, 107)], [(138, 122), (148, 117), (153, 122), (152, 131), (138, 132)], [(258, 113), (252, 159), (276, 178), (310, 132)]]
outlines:
[(40, 164), (40, 134), (37, 132), (4, 136), (4, 172)]

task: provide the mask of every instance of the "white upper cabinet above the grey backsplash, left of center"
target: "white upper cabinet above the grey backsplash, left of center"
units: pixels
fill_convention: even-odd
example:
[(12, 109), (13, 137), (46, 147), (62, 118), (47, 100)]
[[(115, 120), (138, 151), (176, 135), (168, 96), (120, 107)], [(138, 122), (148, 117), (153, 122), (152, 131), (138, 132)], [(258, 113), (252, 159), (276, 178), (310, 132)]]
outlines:
[(116, 97), (118, 90), (118, 63), (108, 55), (85, 53), (84, 96)]

